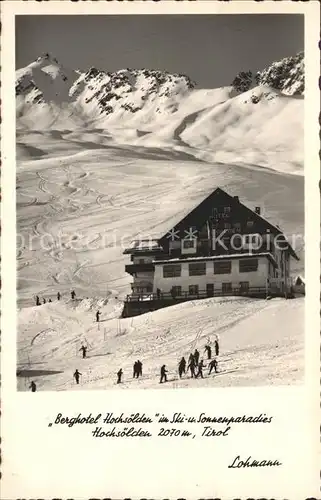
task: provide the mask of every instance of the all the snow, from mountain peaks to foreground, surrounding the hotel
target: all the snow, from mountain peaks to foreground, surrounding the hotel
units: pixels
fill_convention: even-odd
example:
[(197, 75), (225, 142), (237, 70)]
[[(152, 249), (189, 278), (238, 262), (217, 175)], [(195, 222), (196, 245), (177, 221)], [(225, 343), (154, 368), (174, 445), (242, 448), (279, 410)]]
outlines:
[[(169, 386), (300, 381), (303, 299), (208, 299), (118, 318), (131, 281), (123, 249), (164, 234), (217, 187), (295, 234), (292, 272), (304, 274), (302, 96), (263, 84), (196, 89), (152, 70), (82, 73), (49, 55), (17, 78), (19, 389), (28, 377), (38, 389), (76, 389), (76, 368), (79, 388), (111, 388), (120, 367), (122, 388), (160, 387), (163, 363)], [(35, 307), (35, 295), (53, 302)], [(173, 380), (179, 357), (215, 333), (222, 373)], [(144, 378), (133, 382), (137, 358)]]

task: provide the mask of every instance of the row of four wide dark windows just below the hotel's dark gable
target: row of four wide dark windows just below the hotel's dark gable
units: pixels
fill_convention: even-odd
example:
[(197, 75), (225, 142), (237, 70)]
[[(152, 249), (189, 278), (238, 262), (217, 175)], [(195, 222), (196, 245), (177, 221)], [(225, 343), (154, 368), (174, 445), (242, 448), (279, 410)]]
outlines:
[[(240, 273), (251, 273), (258, 270), (258, 259), (242, 259), (239, 261)], [(214, 262), (214, 274), (231, 274), (232, 261), (223, 260)], [(179, 278), (182, 274), (181, 264), (167, 264), (163, 267), (164, 278)], [(204, 276), (206, 274), (206, 262), (192, 262), (188, 265), (189, 276)]]

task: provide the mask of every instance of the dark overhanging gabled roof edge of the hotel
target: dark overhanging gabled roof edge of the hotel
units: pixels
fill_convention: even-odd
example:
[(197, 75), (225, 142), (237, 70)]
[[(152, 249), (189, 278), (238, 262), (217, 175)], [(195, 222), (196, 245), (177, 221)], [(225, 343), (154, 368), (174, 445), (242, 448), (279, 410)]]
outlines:
[[(280, 228), (271, 224), (268, 220), (266, 220), (262, 215), (257, 214), (255, 211), (248, 208), (246, 205), (241, 203), (238, 197), (231, 196), (226, 191), (221, 188), (216, 188), (210, 195), (208, 195), (199, 205), (197, 205), (191, 212), (189, 212), (183, 219), (181, 219), (177, 224), (175, 224), (174, 228), (176, 231), (182, 230), (184, 227), (200, 227), (206, 223), (210, 211), (213, 207), (213, 204), (218, 201), (219, 204), (227, 203), (231, 208), (237, 208), (237, 206), (242, 206), (251, 218), (254, 221), (260, 222), (266, 229), (269, 229), (270, 232), (274, 235), (282, 235), (284, 237), (284, 241), (288, 243), (288, 250), (292, 257), (296, 260), (300, 260), (290, 243), (287, 241), (284, 233)], [(164, 234), (158, 241), (160, 245), (162, 242), (168, 239), (168, 232)]]

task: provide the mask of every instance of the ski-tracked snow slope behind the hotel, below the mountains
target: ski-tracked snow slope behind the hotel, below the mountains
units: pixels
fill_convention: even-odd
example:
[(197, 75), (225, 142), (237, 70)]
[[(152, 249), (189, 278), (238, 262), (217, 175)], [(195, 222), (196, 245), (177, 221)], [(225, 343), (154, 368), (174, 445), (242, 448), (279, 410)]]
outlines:
[[(85, 296), (129, 293), (123, 249), (140, 236), (164, 234), (216, 187), (303, 235), (303, 178), (257, 167), (196, 162), (161, 148), (111, 147), (26, 134), (42, 156), (17, 165), (18, 293), (34, 296), (71, 288)], [(35, 138), (37, 142), (35, 142)], [(28, 139), (28, 140), (27, 140)], [(49, 145), (49, 146), (48, 146)], [(70, 146), (70, 152), (67, 149)], [(74, 146), (83, 149), (72, 151)], [(36, 147), (36, 146), (34, 146)], [(291, 240), (292, 241), (292, 240)], [(303, 271), (303, 239), (295, 245)]]

